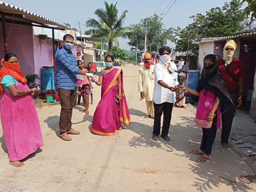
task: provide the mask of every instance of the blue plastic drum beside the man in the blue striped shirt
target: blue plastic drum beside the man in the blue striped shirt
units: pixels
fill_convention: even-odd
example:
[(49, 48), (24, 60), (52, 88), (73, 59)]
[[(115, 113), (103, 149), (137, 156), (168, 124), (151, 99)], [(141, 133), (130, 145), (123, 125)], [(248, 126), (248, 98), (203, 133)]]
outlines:
[(42, 90), (54, 90), (54, 68), (43, 67), (42, 70)]

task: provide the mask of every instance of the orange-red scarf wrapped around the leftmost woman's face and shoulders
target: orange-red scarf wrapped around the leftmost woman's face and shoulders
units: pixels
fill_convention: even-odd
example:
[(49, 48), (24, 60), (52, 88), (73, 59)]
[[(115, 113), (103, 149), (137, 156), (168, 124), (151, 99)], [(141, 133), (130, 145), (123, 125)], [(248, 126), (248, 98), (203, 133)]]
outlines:
[[(21, 72), (21, 68), (19, 67), (18, 63), (8, 63), (4, 61), (4, 58), (1, 59), (1, 66), (0, 69), (0, 82), (2, 81), (4, 75), (11, 75), (13, 76), (17, 81), (25, 84), (27, 82), (25, 75)], [(0, 93), (3, 92), (3, 86), (0, 83)]]

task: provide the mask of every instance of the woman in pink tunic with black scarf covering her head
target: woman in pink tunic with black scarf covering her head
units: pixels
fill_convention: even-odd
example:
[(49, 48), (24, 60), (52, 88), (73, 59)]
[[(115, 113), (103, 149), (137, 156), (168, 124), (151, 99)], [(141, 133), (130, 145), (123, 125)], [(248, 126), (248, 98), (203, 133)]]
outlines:
[(220, 102), (227, 103), (229, 107), (235, 108), (218, 68), (216, 56), (213, 54), (205, 56), (201, 79), (196, 90), (183, 85), (179, 88), (200, 96), (195, 124), (203, 129), (202, 142), (199, 150), (192, 150), (189, 153), (202, 155), (197, 161), (205, 162), (210, 159), (209, 155), (211, 154), (216, 131), (217, 128), (220, 128)]

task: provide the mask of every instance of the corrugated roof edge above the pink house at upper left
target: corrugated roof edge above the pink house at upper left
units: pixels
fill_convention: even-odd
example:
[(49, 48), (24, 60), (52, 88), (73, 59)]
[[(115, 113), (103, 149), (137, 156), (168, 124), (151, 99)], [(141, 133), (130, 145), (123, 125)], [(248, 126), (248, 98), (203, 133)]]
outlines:
[(51, 19), (47, 19), (43, 17), (42, 15), (38, 15), (32, 12), (29, 12), (25, 9), (10, 5), (8, 3), (5, 3), (3, 1), (0, 1), (0, 11), (4, 13), (11, 13), (11, 14), (20, 14), (24, 15), (25, 19), (29, 19), (32, 22), (38, 22), (41, 24), (48, 24), (48, 25), (59, 25), (59, 26), (65, 26), (61, 23), (58, 23), (56, 21), (53, 21)]

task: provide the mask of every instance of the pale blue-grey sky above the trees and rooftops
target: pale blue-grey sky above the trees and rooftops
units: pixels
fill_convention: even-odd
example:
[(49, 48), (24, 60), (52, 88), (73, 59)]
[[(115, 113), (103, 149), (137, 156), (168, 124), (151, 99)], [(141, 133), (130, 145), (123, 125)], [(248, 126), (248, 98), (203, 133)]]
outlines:
[[(149, 17), (159, 7), (157, 14), (166, 14), (169, 7), (175, 0), (107, 0), (108, 3), (117, 3), (117, 8), (121, 14), (123, 10), (127, 9), (129, 12), (125, 20), (125, 26), (136, 24), (141, 18)], [(173, 7), (163, 18), (163, 23), (166, 28), (180, 26), (184, 28), (192, 22), (189, 16), (197, 13), (205, 13), (212, 7), (222, 7), (224, 2), (230, 0), (176, 0)], [(104, 0), (6, 0), (6, 3), (18, 6), (33, 13), (42, 15), (46, 18), (52, 19), (60, 23), (69, 23), (71, 27), (79, 29), (78, 22), (81, 24), (81, 31), (86, 30), (85, 22), (88, 18), (96, 18), (94, 11), (97, 8), (104, 8)], [(170, 6), (167, 7), (167, 5)], [(164, 11), (164, 9), (167, 9)], [(245, 6), (244, 6), (245, 7)], [(164, 12), (163, 12), (164, 11)], [(129, 50), (127, 44), (128, 40), (120, 40), (119, 44), (122, 49)], [(169, 46), (174, 46), (173, 43), (168, 42)]]

